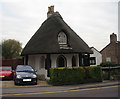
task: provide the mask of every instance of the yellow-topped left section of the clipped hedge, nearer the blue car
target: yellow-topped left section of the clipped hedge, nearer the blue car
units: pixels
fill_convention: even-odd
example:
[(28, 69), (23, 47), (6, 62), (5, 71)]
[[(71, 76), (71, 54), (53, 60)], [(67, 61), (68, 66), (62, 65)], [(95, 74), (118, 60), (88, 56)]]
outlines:
[(53, 85), (82, 83), (85, 71), (82, 67), (51, 68), (50, 82)]

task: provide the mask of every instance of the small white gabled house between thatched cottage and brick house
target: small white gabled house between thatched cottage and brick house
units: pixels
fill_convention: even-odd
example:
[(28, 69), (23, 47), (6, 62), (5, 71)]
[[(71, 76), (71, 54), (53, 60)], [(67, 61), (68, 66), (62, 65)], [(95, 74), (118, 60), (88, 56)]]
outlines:
[(102, 54), (94, 47), (91, 47), (93, 54), (90, 54), (90, 65), (99, 66), (102, 63)]

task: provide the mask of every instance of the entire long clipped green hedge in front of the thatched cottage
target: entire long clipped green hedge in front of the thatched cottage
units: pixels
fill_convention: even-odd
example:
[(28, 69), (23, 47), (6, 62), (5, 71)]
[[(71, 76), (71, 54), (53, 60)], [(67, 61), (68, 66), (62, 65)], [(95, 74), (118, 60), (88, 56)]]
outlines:
[(100, 81), (102, 81), (102, 70), (99, 66), (50, 69), (50, 83), (52, 85), (81, 84)]

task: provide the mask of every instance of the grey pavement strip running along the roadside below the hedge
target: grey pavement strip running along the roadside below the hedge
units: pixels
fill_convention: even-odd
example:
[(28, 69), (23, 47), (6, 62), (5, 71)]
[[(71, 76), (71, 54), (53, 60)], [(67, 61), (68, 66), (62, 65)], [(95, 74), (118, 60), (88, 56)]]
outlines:
[[(14, 81), (0, 81), (1, 88), (9, 88), (9, 87), (56, 87), (49, 85), (47, 81), (38, 81), (37, 85), (22, 85), (22, 86), (15, 86)], [(105, 80), (103, 82), (97, 82), (97, 83), (87, 83), (87, 84), (78, 84), (78, 85), (64, 85), (64, 86), (57, 86), (61, 88), (66, 88), (68, 90), (74, 90), (74, 89), (85, 89), (85, 88), (96, 88), (96, 87), (105, 87), (105, 86), (114, 86), (114, 85), (120, 85), (119, 81), (110, 81)]]

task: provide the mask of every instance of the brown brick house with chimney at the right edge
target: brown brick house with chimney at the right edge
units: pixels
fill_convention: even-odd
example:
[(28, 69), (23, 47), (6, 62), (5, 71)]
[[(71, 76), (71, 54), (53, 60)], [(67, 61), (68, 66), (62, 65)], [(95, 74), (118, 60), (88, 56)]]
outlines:
[(116, 34), (112, 33), (110, 35), (110, 43), (100, 53), (103, 62), (120, 63), (120, 41), (117, 41)]

